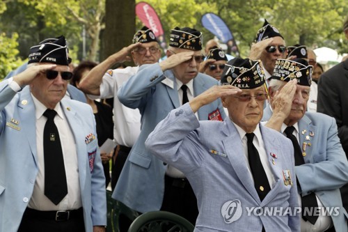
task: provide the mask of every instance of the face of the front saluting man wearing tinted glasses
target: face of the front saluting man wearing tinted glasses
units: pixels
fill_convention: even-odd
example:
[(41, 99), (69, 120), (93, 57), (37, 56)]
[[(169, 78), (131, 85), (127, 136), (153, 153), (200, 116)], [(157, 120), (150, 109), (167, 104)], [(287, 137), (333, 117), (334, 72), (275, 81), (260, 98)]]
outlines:
[(242, 89), (242, 93), (237, 95), (221, 97), (223, 107), (228, 109), (230, 119), (247, 133), (253, 132), (260, 123), (266, 99), (267, 93), (264, 86)]

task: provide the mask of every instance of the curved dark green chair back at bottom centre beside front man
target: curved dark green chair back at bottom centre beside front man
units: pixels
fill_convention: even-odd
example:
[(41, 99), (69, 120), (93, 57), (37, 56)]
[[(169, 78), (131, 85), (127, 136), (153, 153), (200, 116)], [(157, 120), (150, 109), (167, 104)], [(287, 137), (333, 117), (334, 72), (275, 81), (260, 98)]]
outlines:
[(191, 222), (173, 212), (153, 211), (136, 217), (128, 232), (191, 232), (193, 229)]

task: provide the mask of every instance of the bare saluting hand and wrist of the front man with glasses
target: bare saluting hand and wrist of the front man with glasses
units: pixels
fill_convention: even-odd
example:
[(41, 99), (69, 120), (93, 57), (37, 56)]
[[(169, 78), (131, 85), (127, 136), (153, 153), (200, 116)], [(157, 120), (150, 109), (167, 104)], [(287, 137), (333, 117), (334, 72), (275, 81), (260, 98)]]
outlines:
[(242, 92), (239, 88), (231, 85), (212, 86), (207, 91), (200, 93), (196, 98), (189, 101), (193, 112), (196, 113), (200, 107), (207, 105), (222, 96), (235, 95)]

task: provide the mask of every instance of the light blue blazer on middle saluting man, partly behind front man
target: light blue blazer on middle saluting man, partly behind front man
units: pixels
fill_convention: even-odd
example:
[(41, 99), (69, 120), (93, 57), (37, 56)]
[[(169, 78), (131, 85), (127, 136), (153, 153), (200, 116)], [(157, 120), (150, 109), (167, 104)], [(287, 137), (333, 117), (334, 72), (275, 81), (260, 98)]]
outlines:
[[(217, 84), (216, 79), (199, 73), (193, 79), (194, 95)], [(166, 165), (145, 149), (145, 139), (172, 109), (180, 107), (173, 72), (163, 73), (158, 63), (141, 65), (136, 75), (120, 87), (118, 99), (126, 107), (139, 109), (141, 133), (125, 162), (113, 198), (139, 212), (159, 210), (164, 195)], [(198, 117), (207, 120), (208, 114), (216, 109), (222, 118), (226, 117), (221, 100), (202, 107)]]

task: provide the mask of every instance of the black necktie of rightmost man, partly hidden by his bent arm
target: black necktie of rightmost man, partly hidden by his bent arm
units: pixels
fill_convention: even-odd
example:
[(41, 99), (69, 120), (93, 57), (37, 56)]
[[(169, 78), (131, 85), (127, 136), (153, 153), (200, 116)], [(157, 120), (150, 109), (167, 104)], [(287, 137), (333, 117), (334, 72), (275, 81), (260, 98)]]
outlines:
[[(294, 146), (294, 158), (295, 158), (295, 166), (299, 166), (304, 164), (304, 159), (302, 155), (302, 150), (301, 147), (299, 146), (299, 142), (297, 141), (296, 137), (292, 132), (294, 132), (295, 127), (287, 127), (285, 129), (285, 134), (287, 138), (289, 138), (292, 141), (292, 146)], [(305, 221), (309, 221), (311, 224), (315, 224), (317, 222), (318, 216), (308, 216), (308, 215), (303, 215), (303, 212), (305, 212), (305, 208), (308, 209), (308, 212), (315, 212), (315, 210), (310, 210), (312, 207), (318, 207), (317, 203), (317, 197), (315, 196), (314, 192), (306, 195), (306, 196), (301, 196), (301, 202), (302, 202), (302, 217)], [(308, 214), (308, 213), (307, 213)]]

